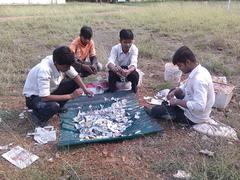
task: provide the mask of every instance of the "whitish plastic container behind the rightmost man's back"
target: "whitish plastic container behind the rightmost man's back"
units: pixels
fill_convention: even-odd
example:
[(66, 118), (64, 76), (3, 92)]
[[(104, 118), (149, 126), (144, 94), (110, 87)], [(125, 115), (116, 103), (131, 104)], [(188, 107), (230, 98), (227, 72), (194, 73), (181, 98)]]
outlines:
[(215, 103), (213, 107), (224, 109), (231, 101), (235, 86), (214, 82)]

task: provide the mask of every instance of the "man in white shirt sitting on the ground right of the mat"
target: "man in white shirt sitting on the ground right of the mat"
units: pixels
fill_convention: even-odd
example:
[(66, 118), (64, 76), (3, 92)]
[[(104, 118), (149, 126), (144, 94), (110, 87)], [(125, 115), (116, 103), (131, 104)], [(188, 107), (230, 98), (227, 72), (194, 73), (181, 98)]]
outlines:
[(193, 52), (186, 46), (175, 52), (172, 62), (183, 73), (189, 73), (187, 81), (167, 95), (169, 105), (163, 103), (152, 109), (145, 107), (146, 112), (154, 118), (189, 125), (208, 121), (215, 101), (210, 73), (198, 64)]

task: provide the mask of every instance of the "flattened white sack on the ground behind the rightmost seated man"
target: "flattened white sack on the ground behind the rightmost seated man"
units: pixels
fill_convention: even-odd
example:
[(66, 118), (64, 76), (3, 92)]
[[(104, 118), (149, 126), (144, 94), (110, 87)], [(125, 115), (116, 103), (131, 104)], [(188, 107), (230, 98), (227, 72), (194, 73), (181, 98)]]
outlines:
[(193, 126), (193, 129), (197, 132), (210, 136), (220, 136), (232, 140), (239, 140), (236, 131), (232, 127), (221, 122), (214, 121), (213, 119), (209, 119), (209, 121), (205, 123), (196, 124)]

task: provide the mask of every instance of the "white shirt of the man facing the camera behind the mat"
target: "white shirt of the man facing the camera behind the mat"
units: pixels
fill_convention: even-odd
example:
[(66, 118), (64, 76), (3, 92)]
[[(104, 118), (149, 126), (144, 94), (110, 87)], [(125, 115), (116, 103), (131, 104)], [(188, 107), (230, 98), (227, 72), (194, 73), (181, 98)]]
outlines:
[(137, 58), (138, 58), (138, 48), (134, 44), (131, 45), (127, 53), (124, 53), (122, 50), (122, 46), (119, 43), (112, 47), (106, 67), (110, 63), (112, 63), (114, 65), (128, 66), (128, 67), (133, 65), (137, 69), (137, 62), (138, 62)]

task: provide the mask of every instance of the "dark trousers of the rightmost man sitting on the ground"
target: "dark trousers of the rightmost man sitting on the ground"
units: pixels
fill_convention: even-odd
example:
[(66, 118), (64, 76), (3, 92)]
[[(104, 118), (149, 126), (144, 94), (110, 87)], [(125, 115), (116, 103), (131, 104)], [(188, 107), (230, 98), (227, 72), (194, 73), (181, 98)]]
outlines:
[(178, 106), (169, 106), (165, 102), (162, 105), (154, 106), (151, 109), (151, 116), (157, 119), (172, 120), (173, 122), (194, 125), (196, 123), (190, 121), (184, 111)]

